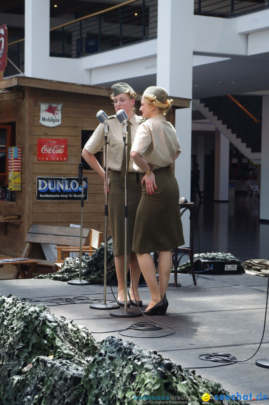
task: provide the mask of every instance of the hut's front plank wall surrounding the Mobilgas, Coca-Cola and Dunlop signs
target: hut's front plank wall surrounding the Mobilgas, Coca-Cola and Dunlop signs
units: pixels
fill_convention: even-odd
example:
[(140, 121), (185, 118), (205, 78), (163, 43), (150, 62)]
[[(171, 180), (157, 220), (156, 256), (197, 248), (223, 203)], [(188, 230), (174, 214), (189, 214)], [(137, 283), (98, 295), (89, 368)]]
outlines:
[[(111, 100), (107, 97), (56, 92), (34, 89), (33, 93), (33, 187), (32, 187), (32, 223), (69, 226), (80, 224), (80, 201), (37, 201), (36, 177), (59, 176), (77, 177), (78, 164), (81, 161), (81, 130), (94, 130), (98, 126), (96, 113), (103, 109), (108, 115), (115, 112)], [(62, 103), (62, 124), (48, 128), (39, 123), (39, 102)], [(38, 162), (38, 138), (67, 139), (68, 160), (66, 162)], [(101, 232), (105, 229), (103, 181), (94, 171), (83, 171), (88, 177), (88, 201), (83, 207), (83, 226)], [(110, 228), (108, 226), (108, 232)]]

